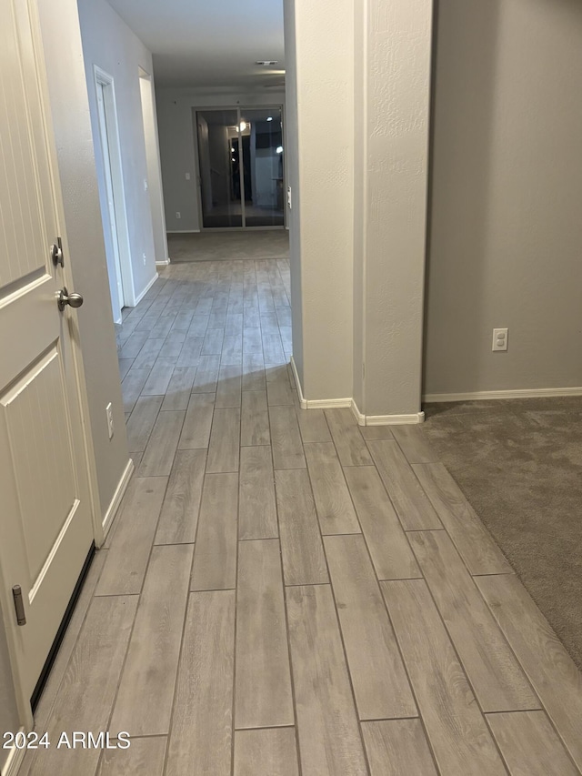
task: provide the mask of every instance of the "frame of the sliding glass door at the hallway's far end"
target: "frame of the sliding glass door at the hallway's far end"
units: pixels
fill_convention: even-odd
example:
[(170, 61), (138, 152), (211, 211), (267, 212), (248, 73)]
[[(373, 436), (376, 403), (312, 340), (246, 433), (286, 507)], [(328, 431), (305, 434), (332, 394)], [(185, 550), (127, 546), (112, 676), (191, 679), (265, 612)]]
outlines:
[[(266, 227), (247, 227), (246, 226), (246, 202), (245, 202), (245, 174), (244, 174), (244, 151), (243, 151), (243, 134), (240, 129), (242, 121), (242, 111), (245, 110), (278, 110), (281, 112), (281, 136), (283, 138), (283, 226), (266, 226)], [(202, 171), (200, 165), (200, 146), (198, 141), (198, 114), (204, 114), (207, 111), (236, 111), (236, 126), (238, 128), (238, 175), (240, 179), (240, 191), (241, 191), (241, 213), (242, 213), (242, 226), (241, 227), (205, 227), (204, 226), (204, 210), (202, 207)], [(196, 186), (198, 190), (198, 224), (200, 225), (201, 232), (236, 232), (254, 230), (261, 231), (267, 229), (286, 229), (287, 228), (287, 207), (286, 207), (286, 125), (285, 125), (285, 105), (271, 104), (268, 105), (256, 105), (256, 106), (240, 106), (240, 105), (225, 105), (225, 106), (192, 106), (192, 125), (194, 130), (194, 154), (196, 160)]]

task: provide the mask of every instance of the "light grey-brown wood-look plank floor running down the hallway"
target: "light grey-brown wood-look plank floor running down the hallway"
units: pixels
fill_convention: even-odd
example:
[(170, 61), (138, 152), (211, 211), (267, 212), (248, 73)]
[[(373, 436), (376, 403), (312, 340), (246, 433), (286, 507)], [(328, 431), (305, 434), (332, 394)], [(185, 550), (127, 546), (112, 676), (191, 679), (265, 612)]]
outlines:
[(299, 408), (286, 259), (168, 267), (120, 339), (135, 475), (36, 725), (131, 747), (23, 773), (580, 773), (582, 676), (423, 429)]

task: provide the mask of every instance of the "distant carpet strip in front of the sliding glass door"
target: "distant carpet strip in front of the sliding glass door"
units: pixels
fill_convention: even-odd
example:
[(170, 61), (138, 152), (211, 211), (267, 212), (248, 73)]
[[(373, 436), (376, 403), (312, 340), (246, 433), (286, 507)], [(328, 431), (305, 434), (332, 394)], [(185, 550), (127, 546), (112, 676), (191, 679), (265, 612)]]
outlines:
[(168, 235), (167, 249), (172, 262), (288, 258), (289, 233), (286, 229), (266, 229)]

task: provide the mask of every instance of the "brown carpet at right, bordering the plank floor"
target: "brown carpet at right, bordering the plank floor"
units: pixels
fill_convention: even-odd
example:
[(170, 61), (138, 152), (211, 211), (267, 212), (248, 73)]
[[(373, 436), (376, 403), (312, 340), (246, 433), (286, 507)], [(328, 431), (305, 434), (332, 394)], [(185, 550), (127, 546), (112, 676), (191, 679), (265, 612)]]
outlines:
[(582, 669), (582, 397), (425, 412), (426, 437)]

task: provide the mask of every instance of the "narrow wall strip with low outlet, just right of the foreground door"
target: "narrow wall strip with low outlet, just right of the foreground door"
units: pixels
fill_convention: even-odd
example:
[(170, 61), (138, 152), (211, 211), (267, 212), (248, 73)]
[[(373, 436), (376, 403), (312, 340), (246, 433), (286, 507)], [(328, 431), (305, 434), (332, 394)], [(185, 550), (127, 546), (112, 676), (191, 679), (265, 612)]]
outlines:
[[(100, 0), (97, 0), (100, 2)], [(83, 51), (75, 0), (40, 0), (39, 9), (51, 115), (63, 191), (65, 227), (79, 310), (91, 433), (102, 515), (129, 459), (119, 385), (115, 328), (97, 192)], [(54, 45), (65, 38), (65, 46)], [(137, 74), (136, 74), (137, 77)], [(112, 402), (115, 435), (109, 439), (105, 407)]]

